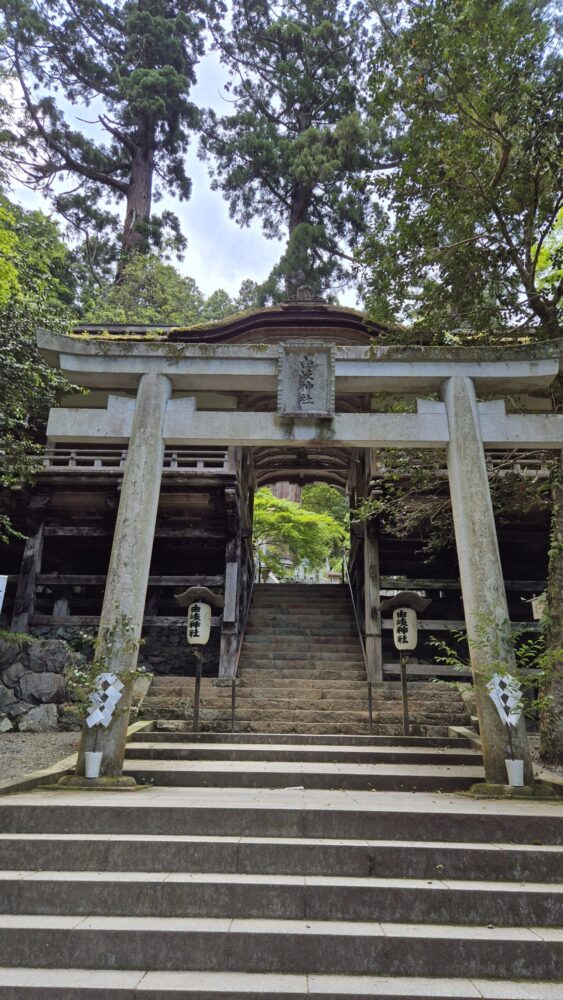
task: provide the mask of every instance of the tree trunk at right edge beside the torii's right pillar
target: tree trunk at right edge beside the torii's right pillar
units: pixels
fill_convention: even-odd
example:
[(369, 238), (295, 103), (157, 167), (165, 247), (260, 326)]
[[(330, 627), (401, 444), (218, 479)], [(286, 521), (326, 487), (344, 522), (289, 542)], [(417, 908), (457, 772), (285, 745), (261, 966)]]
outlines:
[[(563, 462), (563, 454), (562, 454)], [(563, 465), (554, 477), (545, 639), (549, 676), (544, 694), (551, 698), (540, 720), (540, 752), (546, 763), (563, 763)]]

